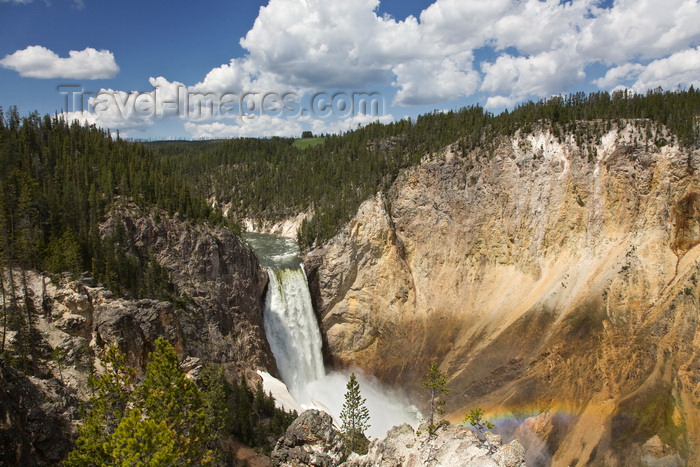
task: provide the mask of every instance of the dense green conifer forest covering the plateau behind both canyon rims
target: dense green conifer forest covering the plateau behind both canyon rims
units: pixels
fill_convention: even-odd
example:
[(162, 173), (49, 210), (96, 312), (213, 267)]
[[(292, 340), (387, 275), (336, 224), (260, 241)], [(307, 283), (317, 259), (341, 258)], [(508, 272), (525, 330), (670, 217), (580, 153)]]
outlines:
[[(152, 258), (125, 254), (124, 232), (100, 234), (116, 204), (128, 201), (234, 231), (246, 217), (280, 220), (310, 208), (313, 216), (299, 233), (302, 247), (309, 247), (332, 237), (402, 168), (447, 145), (488, 155), (501, 137), (546, 127), (559, 138), (574, 135), (592, 161), (585, 148), (622, 120), (644, 126), (657, 146), (668, 143), (654, 136), (664, 126), (680, 144), (697, 147), (698, 114), (700, 92), (692, 87), (644, 95), (577, 93), (499, 115), (472, 106), (374, 123), (298, 148), (292, 138), (135, 143), (60, 116), (0, 109), (0, 267), (87, 271), (119, 295), (171, 299), (176, 291)], [(230, 207), (227, 217), (224, 206)], [(14, 299), (23, 286), (18, 282), (13, 278), (10, 290), (1, 291), (3, 320), (27, 335), (19, 342), (30, 342), (33, 311)]]

